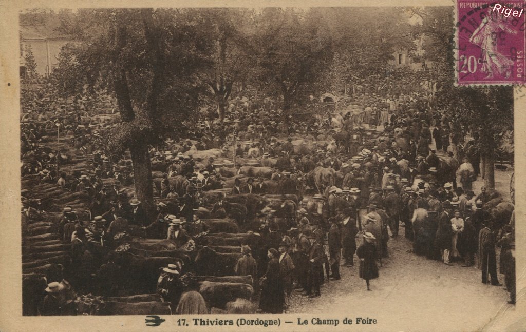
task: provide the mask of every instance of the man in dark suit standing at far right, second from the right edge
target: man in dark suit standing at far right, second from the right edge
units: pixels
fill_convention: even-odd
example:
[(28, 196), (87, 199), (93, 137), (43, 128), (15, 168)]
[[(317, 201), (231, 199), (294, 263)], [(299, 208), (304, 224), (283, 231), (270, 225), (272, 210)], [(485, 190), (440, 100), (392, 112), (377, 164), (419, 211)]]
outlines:
[(481, 264), (482, 283), (488, 283), (488, 274), (491, 276), (491, 285), (500, 286), (497, 277), (497, 255), (495, 254), (495, 238), (489, 227), (490, 221), (484, 221), (484, 228), (479, 232), (479, 262)]

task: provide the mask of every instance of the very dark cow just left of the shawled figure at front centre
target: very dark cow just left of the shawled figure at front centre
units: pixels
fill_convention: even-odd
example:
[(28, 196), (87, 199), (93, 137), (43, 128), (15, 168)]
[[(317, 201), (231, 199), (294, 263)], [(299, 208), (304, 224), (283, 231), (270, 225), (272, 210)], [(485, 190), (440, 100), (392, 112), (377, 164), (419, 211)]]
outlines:
[(197, 253), (194, 269), (200, 275), (235, 275), (234, 267), (242, 256), (241, 253), (217, 253), (205, 246)]

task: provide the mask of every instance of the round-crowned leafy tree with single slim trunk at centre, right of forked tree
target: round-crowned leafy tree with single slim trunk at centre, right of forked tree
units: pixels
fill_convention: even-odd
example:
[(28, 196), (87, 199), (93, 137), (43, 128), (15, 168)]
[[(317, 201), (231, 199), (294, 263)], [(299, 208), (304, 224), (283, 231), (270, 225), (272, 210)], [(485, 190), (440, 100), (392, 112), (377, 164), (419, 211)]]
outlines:
[(312, 10), (265, 8), (254, 25), (247, 45), (257, 66), (254, 81), (267, 95), (281, 100), (284, 130), (288, 131), (294, 108), (328, 87), (330, 34), (325, 20)]

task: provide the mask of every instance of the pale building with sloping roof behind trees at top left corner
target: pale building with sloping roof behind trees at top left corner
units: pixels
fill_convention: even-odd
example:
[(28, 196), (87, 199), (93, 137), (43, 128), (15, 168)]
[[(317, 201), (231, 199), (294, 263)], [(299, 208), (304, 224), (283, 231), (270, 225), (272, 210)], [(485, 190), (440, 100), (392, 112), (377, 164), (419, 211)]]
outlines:
[(26, 75), (25, 49), (31, 47), (38, 75), (48, 76), (57, 65), (60, 49), (70, 42), (69, 38), (42, 26), (20, 27), (20, 76)]

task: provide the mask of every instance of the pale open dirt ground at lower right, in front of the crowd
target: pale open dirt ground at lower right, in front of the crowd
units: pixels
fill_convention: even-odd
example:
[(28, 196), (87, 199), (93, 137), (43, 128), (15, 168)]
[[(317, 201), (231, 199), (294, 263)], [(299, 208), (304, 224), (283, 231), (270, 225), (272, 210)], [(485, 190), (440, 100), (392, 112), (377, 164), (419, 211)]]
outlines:
[[(511, 170), (495, 170), (497, 190), (507, 199), (510, 176)], [(481, 179), (474, 183), (476, 193), (482, 184)], [(371, 281), (370, 292), (358, 276), (355, 255), (355, 266), (341, 266), (341, 279), (326, 282), (320, 297), (308, 298), (295, 290), (287, 312), (370, 317), (378, 321), (374, 329), (382, 331), (526, 331), (524, 321), (505, 328), (525, 316), (507, 304), (504, 286), (482, 284), (476, 266), (448, 266), (407, 253), (412, 245), (403, 234), (400, 227), (399, 237), (388, 242), (389, 257), (382, 259), (380, 277)], [(356, 240), (357, 245), (362, 241)], [(504, 275), (499, 274), (499, 282), (504, 283)]]

